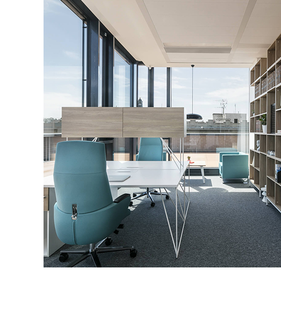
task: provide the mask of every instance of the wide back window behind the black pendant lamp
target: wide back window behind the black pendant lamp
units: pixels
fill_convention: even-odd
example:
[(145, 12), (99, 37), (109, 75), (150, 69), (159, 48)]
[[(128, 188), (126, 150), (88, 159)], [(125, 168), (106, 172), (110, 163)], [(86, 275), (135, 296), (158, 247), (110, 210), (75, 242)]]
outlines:
[[(220, 151), (248, 153), (249, 69), (193, 68), (193, 113), (203, 120), (187, 120), (185, 154), (218, 167)], [(172, 68), (171, 106), (192, 112), (192, 70)], [(179, 142), (172, 138), (172, 150)]]

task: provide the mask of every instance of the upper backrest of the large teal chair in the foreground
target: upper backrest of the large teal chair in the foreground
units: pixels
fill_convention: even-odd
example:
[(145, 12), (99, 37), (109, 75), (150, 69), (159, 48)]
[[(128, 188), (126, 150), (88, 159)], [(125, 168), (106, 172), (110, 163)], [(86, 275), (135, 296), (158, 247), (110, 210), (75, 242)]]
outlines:
[(88, 213), (113, 202), (103, 143), (59, 142), (53, 177), (57, 207), (65, 213), (72, 214), (73, 204), (79, 213)]

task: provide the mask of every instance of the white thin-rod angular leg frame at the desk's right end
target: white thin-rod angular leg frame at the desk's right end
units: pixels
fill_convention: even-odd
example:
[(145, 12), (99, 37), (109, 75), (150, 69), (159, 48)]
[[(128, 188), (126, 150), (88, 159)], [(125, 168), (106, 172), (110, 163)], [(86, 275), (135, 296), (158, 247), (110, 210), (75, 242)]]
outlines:
[[(178, 258), (179, 256), (179, 251), (180, 251), (180, 247), (181, 247), (181, 242), (182, 242), (182, 238), (183, 238), (183, 233), (184, 233), (184, 228), (185, 228), (185, 224), (186, 224), (186, 219), (187, 219), (187, 211), (189, 208), (189, 204), (190, 204), (190, 174), (189, 174), (189, 165), (188, 165), (188, 198), (187, 198), (187, 194), (186, 194), (186, 172), (184, 173), (184, 188), (182, 187), (181, 184), (179, 184), (182, 188), (182, 190), (184, 191), (184, 210), (181, 204), (181, 201), (179, 199), (179, 195), (178, 195), (178, 187), (175, 188), (176, 191), (176, 204), (173, 202), (173, 200), (171, 199), (173, 205), (176, 208), (176, 237), (174, 239), (174, 235), (171, 229), (171, 225), (170, 225), (170, 220), (167, 214), (167, 209), (164, 203), (164, 199), (163, 199), (163, 195), (161, 192), (161, 189), (159, 188), (160, 194), (161, 194), (161, 199), (162, 199), (162, 203), (163, 203), (163, 207), (165, 210), (165, 214), (166, 214), (166, 218), (167, 218), (167, 222), (168, 222), (168, 226), (169, 226), (169, 230), (170, 230), (170, 234), (172, 237), (172, 241), (173, 241), (173, 245), (174, 245), (174, 249), (175, 249), (175, 253), (176, 253), (176, 258)], [(165, 191), (167, 192), (167, 190), (165, 189)], [(187, 207), (186, 207), (186, 198), (187, 198)], [(178, 200), (181, 206), (181, 211), (178, 209)], [(181, 232), (181, 236), (180, 236), (180, 240), (178, 240), (178, 214), (180, 214), (182, 220), (183, 220), (183, 226), (182, 226), (182, 232)]]

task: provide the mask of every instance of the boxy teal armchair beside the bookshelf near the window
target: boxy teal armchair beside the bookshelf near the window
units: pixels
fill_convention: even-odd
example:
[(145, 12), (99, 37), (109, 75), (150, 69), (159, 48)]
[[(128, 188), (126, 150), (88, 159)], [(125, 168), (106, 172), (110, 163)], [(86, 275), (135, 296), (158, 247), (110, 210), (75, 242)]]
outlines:
[(248, 155), (242, 152), (220, 152), (219, 172), (223, 179), (249, 181)]

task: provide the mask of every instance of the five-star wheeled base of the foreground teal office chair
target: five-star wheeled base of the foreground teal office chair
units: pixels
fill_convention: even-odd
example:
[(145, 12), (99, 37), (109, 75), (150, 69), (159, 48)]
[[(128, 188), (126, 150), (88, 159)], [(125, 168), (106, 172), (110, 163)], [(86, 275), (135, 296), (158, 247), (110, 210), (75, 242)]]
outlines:
[[(108, 240), (108, 238), (107, 238), (107, 240)], [(103, 241), (99, 242), (97, 245), (99, 246)], [(98, 259), (97, 254), (123, 251), (123, 250), (130, 250), (131, 258), (135, 258), (137, 256), (137, 250), (134, 247), (97, 247), (95, 244), (90, 244), (90, 248), (88, 251), (87, 250), (81, 250), (81, 249), (60, 251), (59, 260), (61, 262), (64, 262), (68, 258), (68, 254), (82, 254), (81, 257), (73, 260), (68, 265), (66, 265), (66, 267), (73, 267), (76, 264), (80, 263), (81, 261), (87, 259), (88, 257), (92, 257), (92, 260), (94, 261), (95, 267), (101, 267), (101, 264), (100, 264), (100, 261)]]

